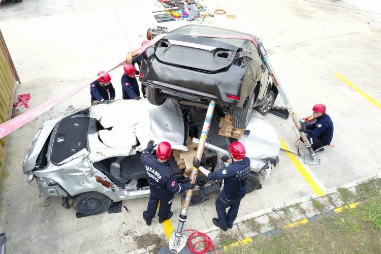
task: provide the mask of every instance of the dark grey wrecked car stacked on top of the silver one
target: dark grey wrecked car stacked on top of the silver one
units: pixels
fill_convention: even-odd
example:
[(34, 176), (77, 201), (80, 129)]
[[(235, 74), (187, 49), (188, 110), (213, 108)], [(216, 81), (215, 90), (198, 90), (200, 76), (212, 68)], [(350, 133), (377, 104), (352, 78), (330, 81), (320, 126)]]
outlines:
[(227, 29), (186, 25), (165, 36), (143, 54), (139, 80), (147, 99), (194, 102), (214, 100), (232, 114), (236, 128), (246, 129), (252, 109), (270, 111), (278, 91), (251, 40), (202, 35), (255, 36)]

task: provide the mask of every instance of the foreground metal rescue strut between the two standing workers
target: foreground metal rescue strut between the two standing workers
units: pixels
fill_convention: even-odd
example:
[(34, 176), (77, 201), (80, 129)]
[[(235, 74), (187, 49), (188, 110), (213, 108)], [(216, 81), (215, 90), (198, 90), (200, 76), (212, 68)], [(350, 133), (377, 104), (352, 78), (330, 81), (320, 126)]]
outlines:
[[(206, 138), (208, 137), (210, 122), (212, 121), (213, 111), (215, 107), (215, 101), (211, 101), (208, 106), (208, 110), (206, 111), (204, 126), (201, 132), (201, 138), (199, 146), (197, 147), (196, 157), (201, 161), (201, 156), (204, 151)], [(190, 174), (190, 182), (195, 183), (197, 174), (199, 173), (199, 169), (193, 167), (192, 174)], [(188, 207), (190, 204), (190, 198), (192, 198), (193, 189), (188, 189), (186, 192), (186, 197), (184, 201), (184, 205), (181, 209), (181, 214), (179, 216), (179, 225), (177, 227), (177, 231), (173, 231), (171, 238), (169, 239), (169, 249), (174, 253), (179, 253), (181, 249), (185, 246), (186, 240), (188, 236), (182, 234), (182, 228), (186, 221), (186, 213), (188, 211)]]

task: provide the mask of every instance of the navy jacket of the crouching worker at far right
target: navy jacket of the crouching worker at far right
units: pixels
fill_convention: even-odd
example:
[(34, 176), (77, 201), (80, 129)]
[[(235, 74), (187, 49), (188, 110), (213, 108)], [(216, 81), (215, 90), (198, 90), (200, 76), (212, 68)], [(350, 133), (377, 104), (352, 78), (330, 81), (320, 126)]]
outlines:
[(331, 144), (333, 137), (333, 122), (327, 114), (316, 117), (316, 122), (306, 125), (305, 133), (309, 137), (318, 138), (323, 145)]

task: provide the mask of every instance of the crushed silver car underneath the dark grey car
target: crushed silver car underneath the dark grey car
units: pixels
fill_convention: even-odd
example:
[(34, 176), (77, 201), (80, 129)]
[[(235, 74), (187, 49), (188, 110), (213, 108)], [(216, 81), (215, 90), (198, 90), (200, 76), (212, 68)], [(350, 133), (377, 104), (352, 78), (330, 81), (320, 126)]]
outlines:
[[(229, 155), (231, 139), (218, 135), (223, 113), (215, 110), (202, 164), (211, 171), (225, 168), (221, 155)], [(187, 141), (198, 143), (205, 105), (179, 105), (168, 99), (161, 106), (147, 100), (123, 100), (100, 104), (43, 123), (25, 156), (23, 172), (36, 180), (41, 194), (62, 197), (69, 208), (85, 215), (107, 210), (113, 202), (149, 196), (146, 170), (140, 154), (149, 140), (167, 141), (173, 150), (187, 151)], [(277, 163), (279, 139), (273, 126), (255, 112), (240, 141), (251, 160), (247, 192), (261, 187)], [(178, 182), (186, 182), (171, 155), (169, 162)], [(208, 199), (223, 182), (198, 177), (201, 194), (192, 202)]]

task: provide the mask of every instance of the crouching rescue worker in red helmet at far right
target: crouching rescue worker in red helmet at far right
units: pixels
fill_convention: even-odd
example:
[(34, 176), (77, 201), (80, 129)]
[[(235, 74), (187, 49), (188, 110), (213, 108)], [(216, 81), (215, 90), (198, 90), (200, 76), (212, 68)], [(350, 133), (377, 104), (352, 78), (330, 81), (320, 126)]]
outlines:
[[(313, 108), (313, 117), (316, 122), (307, 124), (299, 129), (307, 135), (312, 149), (324, 151), (324, 146), (331, 144), (333, 137), (333, 122), (331, 117), (326, 114), (326, 106), (316, 104)], [(301, 141), (302, 138), (300, 138)]]

